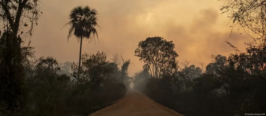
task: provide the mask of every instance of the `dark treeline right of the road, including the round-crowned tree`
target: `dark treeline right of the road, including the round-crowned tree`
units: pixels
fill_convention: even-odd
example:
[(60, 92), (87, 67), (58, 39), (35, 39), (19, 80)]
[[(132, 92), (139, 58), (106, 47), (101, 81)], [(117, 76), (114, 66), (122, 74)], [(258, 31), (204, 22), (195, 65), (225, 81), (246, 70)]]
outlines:
[(250, 44), (245, 53), (237, 49), (228, 57), (195, 67), (178, 66), (174, 44), (161, 37), (139, 43), (136, 56), (145, 65), (135, 74), (134, 88), (156, 102), (188, 116), (230, 116), (266, 111), (266, 46)]

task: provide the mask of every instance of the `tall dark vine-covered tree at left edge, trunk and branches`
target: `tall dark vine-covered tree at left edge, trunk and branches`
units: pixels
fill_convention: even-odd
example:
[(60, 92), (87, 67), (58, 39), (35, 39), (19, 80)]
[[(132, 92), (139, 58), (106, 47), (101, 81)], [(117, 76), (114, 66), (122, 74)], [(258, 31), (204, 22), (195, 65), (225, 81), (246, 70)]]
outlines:
[(39, 0), (0, 1), (0, 100), (4, 111), (21, 110), (25, 105), (22, 38), (32, 36), (40, 17)]

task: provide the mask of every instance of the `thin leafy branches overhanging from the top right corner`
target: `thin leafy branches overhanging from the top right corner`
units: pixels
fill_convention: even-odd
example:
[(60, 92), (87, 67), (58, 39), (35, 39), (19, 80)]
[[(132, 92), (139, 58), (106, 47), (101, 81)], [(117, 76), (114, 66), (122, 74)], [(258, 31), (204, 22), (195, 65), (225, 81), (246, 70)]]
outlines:
[[(219, 1), (219, 0), (218, 0)], [(228, 14), (228, 18), (235, 25), (240, 25), (254, 42), (266, 43), (266, 0), (222, 0), (222, 14)]]

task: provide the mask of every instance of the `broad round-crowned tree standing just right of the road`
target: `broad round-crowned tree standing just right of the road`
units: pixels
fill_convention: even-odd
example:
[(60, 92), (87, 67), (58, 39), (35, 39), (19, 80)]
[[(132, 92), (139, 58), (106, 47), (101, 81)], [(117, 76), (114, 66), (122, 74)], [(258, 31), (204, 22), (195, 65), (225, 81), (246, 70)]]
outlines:
[(160, 79), (161, 74), (173, 73), (177, 68), (178, 54), (174, 48), (173, 41), (166, 41), (162, 37), (148, 37), (139, 42), (135, 56), (147, 65), (153, 78)]

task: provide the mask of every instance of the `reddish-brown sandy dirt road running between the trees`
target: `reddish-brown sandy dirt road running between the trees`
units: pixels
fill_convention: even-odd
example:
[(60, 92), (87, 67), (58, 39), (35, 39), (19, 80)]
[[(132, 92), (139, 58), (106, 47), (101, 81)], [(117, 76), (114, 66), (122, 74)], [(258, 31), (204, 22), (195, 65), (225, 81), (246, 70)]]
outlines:
[(146, 95), (129, 90), (124, 99), (90, 116), (182, 116), (153, 101)]

